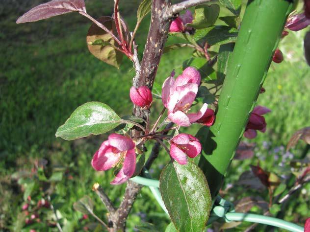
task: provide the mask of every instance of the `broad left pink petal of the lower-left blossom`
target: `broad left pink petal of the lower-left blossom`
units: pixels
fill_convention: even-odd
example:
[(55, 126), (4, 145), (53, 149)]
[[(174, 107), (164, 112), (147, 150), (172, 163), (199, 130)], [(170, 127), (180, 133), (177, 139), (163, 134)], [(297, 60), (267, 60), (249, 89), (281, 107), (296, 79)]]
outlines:
[(113, 153), (113, 147), (104, 141), (92, 159), (96, 171), (105, 171), (113, 167), (121, 158), (121, 153)]

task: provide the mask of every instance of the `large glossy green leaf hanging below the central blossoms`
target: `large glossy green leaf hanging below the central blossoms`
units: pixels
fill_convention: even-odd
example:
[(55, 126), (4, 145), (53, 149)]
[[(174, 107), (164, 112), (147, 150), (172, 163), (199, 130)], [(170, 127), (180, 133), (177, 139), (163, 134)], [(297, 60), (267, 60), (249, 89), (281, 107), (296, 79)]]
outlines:
[(168, 163), (159, 181), (162, 199), (178, 231), (203, 231), (211, 210), (211, 195), (201, 169), (188, 162)]

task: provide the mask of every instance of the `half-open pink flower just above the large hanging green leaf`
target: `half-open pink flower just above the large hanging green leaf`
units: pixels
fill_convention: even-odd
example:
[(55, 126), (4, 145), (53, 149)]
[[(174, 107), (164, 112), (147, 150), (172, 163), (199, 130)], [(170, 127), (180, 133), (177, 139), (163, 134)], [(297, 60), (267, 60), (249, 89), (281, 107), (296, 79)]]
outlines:
[(199, 139), (188, 134), (179, 134), (170, 140), (170, 155), (180, 164), (186, 164), (187, 158), (195, 158), (201, 152)]

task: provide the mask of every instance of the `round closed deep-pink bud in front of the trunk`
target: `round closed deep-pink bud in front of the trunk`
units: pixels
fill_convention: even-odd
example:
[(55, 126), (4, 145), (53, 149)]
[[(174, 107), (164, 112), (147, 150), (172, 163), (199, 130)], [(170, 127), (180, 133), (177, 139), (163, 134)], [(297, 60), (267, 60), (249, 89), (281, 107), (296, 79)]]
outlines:
[(153, 102), (152, 92), (146, 86), (142, 86), (138, 89), (132, 86), (130, 88), (129, 96), (133, 104), (142, 108), (145, 107), (149, 109)]

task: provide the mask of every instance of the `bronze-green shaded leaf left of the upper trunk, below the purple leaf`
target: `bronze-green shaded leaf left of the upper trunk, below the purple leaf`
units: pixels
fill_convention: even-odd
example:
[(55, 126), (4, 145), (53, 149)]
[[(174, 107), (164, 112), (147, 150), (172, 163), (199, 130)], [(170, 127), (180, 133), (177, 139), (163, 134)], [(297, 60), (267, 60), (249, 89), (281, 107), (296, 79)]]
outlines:
[[(103, 23), (103, 25), (113, 34), (116, 34), (115, 24), (110, 17), (103, 16), (97, 19), (97, 21)], [(122, 62), (123, 53), (114, 48), (117, 47), (118, 44), (115, 42), (112, 36), (98, 27), (95, 23), (93, 23), (88, 29), (86, 42), (88, 45), (88, 50), (96, 58), (109, 65), (119, 68)], [(94, 43), (97, 46), (94, 46)]]

